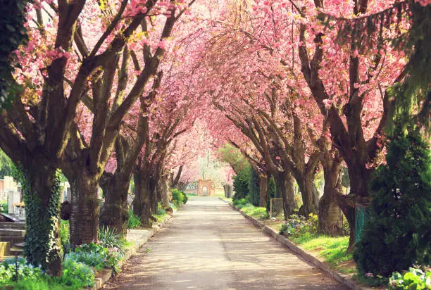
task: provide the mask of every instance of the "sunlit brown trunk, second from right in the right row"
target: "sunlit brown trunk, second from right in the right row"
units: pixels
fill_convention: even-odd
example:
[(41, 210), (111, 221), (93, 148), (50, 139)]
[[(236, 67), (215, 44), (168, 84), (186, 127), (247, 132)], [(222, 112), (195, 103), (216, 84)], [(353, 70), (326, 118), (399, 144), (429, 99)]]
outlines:
[[(337, 203), (337, 196), (342, 195), (341, 162), (323, 165), (325, 187), (319, 201), (319, 231), (333, 236), (343, 234), (343, 214)], [(332, 165), (332, 167), (330, 167)]]

